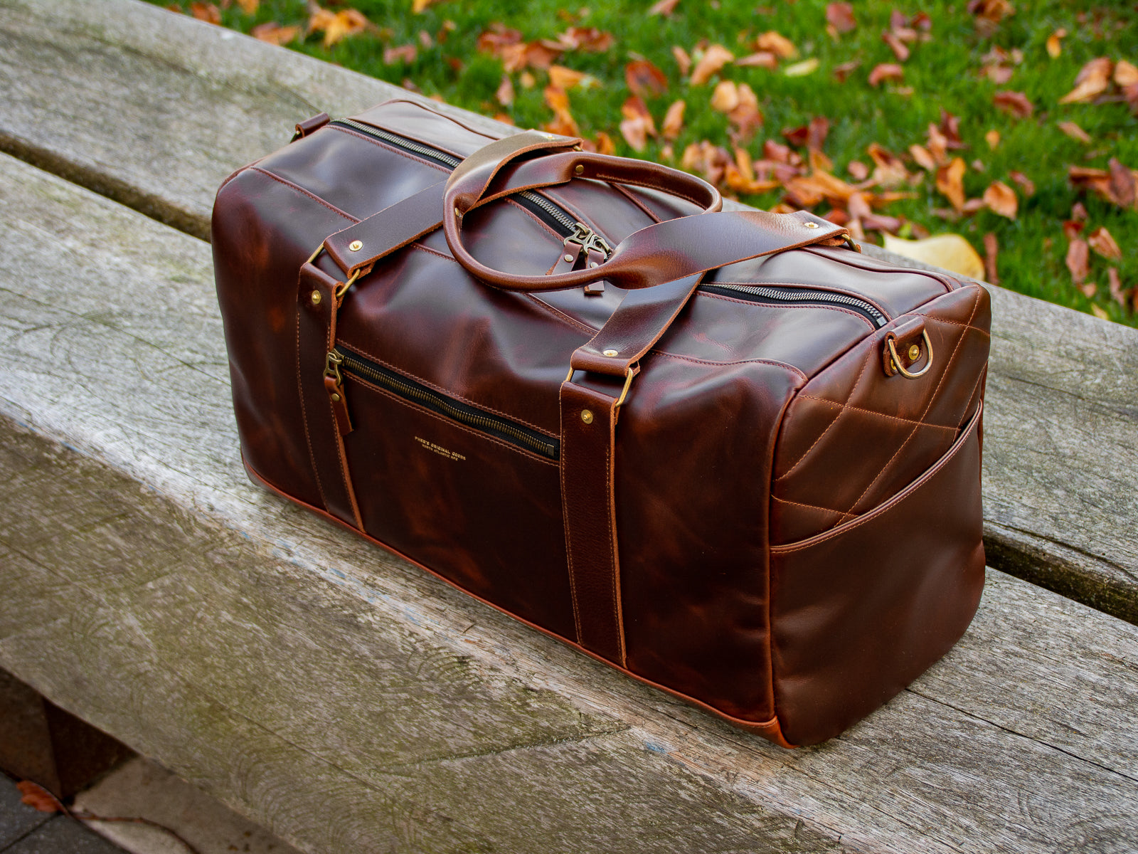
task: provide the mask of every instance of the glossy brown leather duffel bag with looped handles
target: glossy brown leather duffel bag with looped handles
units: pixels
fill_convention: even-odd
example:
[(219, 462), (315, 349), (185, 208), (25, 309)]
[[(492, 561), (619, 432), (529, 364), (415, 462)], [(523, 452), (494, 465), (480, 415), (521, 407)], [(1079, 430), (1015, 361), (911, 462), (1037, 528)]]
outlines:
[(395, 100), (229, 178), (246, 466), (739, 726), (830, 738), (979, 602), (988, 295), (578, 142)]

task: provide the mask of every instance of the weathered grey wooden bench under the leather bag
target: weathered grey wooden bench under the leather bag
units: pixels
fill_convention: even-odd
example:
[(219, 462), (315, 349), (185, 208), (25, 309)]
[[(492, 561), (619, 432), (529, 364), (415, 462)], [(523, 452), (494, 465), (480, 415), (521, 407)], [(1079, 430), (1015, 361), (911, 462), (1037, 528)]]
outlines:
[(314, 852), (1138, 848), (1135, 330), (992, 289), (980, 613), (786, 752), (247, 481), (213, 192), (390, 87), (0, 0), (0, 667)]

